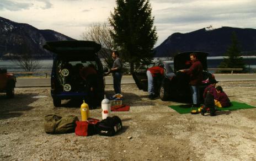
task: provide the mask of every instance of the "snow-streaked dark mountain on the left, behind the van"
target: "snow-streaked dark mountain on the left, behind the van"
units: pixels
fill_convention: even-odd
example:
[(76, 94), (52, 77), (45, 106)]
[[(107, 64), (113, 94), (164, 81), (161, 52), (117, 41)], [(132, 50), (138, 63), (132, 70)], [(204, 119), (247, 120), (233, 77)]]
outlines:
[(52, 57), (42, 48), (46, 41), (74, 40), (53, 30), (39, 30), (29, 24), (0, 17), (0, 59), (11, 53), (29, 52), (39, 58)]

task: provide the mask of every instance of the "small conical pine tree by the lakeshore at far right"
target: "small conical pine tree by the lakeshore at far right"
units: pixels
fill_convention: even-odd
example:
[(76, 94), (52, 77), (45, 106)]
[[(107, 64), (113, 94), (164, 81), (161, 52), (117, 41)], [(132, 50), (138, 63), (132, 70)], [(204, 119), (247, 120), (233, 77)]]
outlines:
[[(245, 68), (237, 36), (234, 32), (231, 36), (231, 45), (228, 46), (225, 56), (227, 56), (227, 58), (223, 58), (223, 61), (218, 68)], [(221, 71), (221, 73), (222, 72), (227, 71)]]

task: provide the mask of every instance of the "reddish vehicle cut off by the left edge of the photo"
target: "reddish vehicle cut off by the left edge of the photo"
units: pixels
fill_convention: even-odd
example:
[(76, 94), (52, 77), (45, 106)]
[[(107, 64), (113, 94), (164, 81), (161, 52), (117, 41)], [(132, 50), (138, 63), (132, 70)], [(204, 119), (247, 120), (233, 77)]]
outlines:
[(0, 92), (6, 93), (7, 98), (13, 98), (15, 84), (16, 77), (7, 72), (7, 69), (0, 68)]

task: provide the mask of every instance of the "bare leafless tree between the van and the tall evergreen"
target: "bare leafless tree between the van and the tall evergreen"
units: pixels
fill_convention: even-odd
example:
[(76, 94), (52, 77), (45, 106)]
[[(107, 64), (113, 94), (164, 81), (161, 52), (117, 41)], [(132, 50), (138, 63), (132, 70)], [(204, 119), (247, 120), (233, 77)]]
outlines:
[(110, 36), (110, 30), (113, 30), (107, 23), (97, 23), (90, 25), (81, 37), (83, 40), (95, 41), (102, 45), (99, 55), (103, 57), (104, 64), (111, 68), (113, 59), (111, 58), (111, 51), (115, 49), (114, 41)]

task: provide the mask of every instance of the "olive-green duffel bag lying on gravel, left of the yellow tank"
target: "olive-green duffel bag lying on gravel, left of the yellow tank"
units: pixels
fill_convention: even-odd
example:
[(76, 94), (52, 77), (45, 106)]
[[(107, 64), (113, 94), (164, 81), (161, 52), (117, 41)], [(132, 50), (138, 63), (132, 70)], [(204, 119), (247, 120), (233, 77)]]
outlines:
[(71, 133), (76, 128), (77, 116), (58, 116), (55, 114), (45, 116), (44, 129), (46, 133)]

